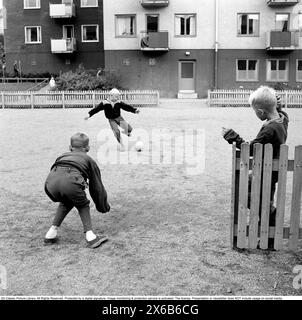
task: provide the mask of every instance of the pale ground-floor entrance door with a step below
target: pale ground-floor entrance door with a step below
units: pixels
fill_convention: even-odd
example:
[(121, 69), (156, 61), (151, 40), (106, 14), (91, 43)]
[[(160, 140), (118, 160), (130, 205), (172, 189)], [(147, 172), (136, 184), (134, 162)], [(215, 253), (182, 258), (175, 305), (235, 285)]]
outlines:
[(179, 61), (179, 91), (195, 92), (195, 61)]

